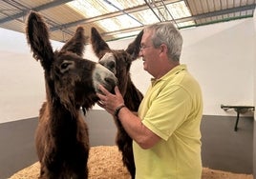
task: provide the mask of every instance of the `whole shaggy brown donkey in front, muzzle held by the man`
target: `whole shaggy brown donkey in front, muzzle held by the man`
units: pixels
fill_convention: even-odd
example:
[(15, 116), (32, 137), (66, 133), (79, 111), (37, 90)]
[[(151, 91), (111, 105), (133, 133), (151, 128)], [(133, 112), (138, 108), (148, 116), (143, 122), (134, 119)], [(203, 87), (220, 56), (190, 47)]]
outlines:
[(53, 51), (48, 28), (38, 13), (30, 13), (26, 30), (33, 57), (41, 62), (45, 75), (46, 102), (35, 135), (39, 178), (88, 178), (88, 129), (80, 109), (95, 105), (98, 84), (113, 90), (117, 78), (82, 58), (86, 37), (81, 27), (59, 51)]

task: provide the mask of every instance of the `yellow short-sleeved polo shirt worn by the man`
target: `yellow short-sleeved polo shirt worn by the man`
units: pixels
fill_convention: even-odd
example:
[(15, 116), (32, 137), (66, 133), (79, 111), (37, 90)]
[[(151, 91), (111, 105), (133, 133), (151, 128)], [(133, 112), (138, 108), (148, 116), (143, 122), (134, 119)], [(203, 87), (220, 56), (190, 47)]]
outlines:
[(185, 65), (153, 80), (139, 117), (161, 139), (152, 149), (134, 141), (136, 179), (201, 179), (202, 113), (201, 88)]

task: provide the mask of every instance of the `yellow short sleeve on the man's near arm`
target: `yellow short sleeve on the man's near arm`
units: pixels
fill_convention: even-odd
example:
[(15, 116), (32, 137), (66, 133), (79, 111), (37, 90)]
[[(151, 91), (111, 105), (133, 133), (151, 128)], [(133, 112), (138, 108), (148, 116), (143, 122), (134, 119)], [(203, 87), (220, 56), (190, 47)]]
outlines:
[(142, 123), (163, 140), (168, 140), (185, 121), (190, 108), (191, 100), (185, 89), (178, 85), (166, 86), (152, 101)]

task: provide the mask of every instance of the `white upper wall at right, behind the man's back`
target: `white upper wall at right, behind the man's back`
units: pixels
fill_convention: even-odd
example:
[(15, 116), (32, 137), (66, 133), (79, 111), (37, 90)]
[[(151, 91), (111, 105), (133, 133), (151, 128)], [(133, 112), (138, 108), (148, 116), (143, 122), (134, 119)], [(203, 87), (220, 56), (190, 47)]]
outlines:
[(203, 114), (229, 114), (221, 104), (253, 106), (252, 19), (182, 30), (182, 35), (182, 62), (200, 81)]

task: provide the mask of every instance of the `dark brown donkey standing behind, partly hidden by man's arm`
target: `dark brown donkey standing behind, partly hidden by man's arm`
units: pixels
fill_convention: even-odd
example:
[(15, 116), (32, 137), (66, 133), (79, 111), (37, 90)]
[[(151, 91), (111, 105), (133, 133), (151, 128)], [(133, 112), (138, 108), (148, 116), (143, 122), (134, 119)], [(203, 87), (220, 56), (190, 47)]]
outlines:
[[(131, 80), (130, 68), (134, 60), (139, 57), (139, 46), (142, 31), (126, 50), (111, 50), (95, 28), (92, 28), (91, 42), (93, 50), (99, 59), (99, 63), (112, 70), (118, 79), (118, 88), (124, 98), (126, 107), (132, 111), (138, 111), (142, 93), (135, 87)], [(132, 142), (120, 122), (115, 119), (117, 125), (117, 146), (122, 152), (123, 164), (129, 170), (132, 178), (135, 178), (135, 163)]]

